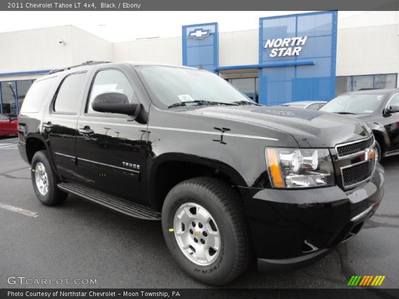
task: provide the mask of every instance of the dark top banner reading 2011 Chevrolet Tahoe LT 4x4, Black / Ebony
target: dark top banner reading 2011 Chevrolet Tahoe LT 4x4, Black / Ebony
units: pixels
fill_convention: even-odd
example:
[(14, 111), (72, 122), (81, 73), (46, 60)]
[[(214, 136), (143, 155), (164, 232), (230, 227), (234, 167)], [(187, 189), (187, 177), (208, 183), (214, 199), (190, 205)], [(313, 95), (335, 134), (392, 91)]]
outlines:
[(234, 10), (399, 10), (398, 0), (1, 0), (7, 11), (234, 11)]

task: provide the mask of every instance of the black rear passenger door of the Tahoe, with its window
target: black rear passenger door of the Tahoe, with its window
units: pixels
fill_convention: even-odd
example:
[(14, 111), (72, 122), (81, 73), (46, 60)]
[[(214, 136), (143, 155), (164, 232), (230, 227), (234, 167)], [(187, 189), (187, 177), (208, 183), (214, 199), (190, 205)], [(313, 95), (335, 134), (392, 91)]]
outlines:
[(76, 163), (76, 126), (87, 83), (86, 71), (65, 76), (43, 118), (43, 136), (58, 173), (69, 180), (81, 180)]

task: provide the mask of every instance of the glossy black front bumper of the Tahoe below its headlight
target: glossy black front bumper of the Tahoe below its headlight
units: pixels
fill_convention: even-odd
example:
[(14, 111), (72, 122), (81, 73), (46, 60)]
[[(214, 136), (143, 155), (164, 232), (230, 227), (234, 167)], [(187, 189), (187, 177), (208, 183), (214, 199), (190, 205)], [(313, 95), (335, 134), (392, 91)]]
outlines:
[[(384, 169), (357, 189), (241, 188), (260, 271), (304, 267), (356, 235), (384, 195)], [(245, 189), (245, 190), (244, 190)]]

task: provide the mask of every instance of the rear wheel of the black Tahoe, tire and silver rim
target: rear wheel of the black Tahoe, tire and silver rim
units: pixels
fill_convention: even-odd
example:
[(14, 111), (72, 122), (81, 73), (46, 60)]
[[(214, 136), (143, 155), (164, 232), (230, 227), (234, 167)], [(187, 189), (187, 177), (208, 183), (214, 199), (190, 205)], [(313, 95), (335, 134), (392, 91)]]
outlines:
[[(30, 169), (34, 192), (42, 204), (51, 206), (65, 201), (68, 193), (58, 189), (59, 178), (50, 164), (46, 150), (36, 151), (33, 155)], [(39, 183), (36, 183), (36, 179), (43, 175), (43, 180), (39, 180)], [(40, 188), (39, 185), (41, 186)], [(47, 186), (47, 191), (45, 186)]]

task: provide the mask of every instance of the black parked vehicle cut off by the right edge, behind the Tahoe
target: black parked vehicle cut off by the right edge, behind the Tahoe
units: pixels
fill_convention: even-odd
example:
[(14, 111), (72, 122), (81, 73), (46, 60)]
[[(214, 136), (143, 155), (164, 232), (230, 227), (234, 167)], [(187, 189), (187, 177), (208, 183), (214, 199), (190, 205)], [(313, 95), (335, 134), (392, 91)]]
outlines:
[(348, 92), (332, 99), (320, 111), (361, 119), (373, 131), (376, 159), (399, 154), (399, 89)]

